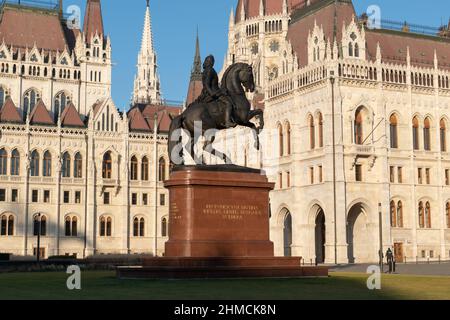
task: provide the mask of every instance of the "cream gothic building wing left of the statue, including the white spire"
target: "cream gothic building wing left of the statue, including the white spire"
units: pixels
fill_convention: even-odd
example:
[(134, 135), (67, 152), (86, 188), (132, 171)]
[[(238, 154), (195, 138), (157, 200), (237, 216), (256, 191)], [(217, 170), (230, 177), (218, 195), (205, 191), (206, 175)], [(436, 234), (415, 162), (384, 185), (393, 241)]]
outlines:
[[(101, 2), (73, 28), (59, 7), (0, 8), (0, 252), (162, 254), (169, 114), (147, 2), (133, 107), (111, 99)], [(49, 33), (51, 30), (51, 33)]]

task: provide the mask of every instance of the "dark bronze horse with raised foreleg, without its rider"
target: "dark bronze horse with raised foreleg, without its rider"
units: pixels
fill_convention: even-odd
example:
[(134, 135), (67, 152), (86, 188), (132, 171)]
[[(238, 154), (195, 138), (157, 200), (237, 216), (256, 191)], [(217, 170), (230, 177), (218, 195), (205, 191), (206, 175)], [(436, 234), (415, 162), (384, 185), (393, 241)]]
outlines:
[[(196, 163), (204, 164), (203, 159), (196, 157), (194, 146), (200, 136), (205, 136), (205, 133), (211, 132), (209, 131), (211, 129), (214, 129), (213, 132), (229, 129), (223, 126), (224, 109), (226, 104), (231, 102), (233, 104), (232, 119), (234, 123), (237, 126), (251, 128), (255, 137), (255, 148), (257, 150), (260, 149), (258, 135), (264, 128), (263, 111), (259, 109), (251, 110), (250, 102), (245, 95), (246, 91), (255, 91), (252, 67), (246, 63), (231, 65), (222, 77), (221, 90), (226, 94), (225, 99), (218, 98), (209, 103), (193, 102), (182, 114), (172, 119), (169, 130), (169, 157), (172, 164), (184, 164), (184, 149), (190, 152)], [(250, 122), (255, 117), (259, 120), (259, 127)], [(199, 124), (201, 124), (201, 128), (198, 127)], [(198, 132), (195, 135), (194, 132), (199, 129), (201, 130), (201, 135)], [(181, 145), (181, 130), (188, 133), (189, 142), (186, 146), (175, 149)], [(222, 158), (226, 163), (231, 163), (231, 160), (224, 153), (212, 147), (215, 134), (206, 134), (205, 140), (203, 145), (204, 151)], [(174, 161), (173, 157), (176, 156), (182, 159), (180, 163)]]

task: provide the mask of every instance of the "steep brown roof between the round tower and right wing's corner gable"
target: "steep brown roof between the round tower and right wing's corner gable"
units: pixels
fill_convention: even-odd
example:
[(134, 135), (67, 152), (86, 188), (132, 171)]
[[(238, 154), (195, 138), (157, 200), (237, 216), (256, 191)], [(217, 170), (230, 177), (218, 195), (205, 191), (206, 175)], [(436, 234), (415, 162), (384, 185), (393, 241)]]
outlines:
[(333, 42), (334, 32), (336, 31), (337, 41), (339, 42), (342, 39), (342, 25), (344, 22), (348, 25), (354, 16), (355, 9), (350, 0), (318, 0), (309, 6), (296, 10), (292, 14), (287, 38), (297, 53), (299, 67), (308, 64), (308, 36), (314, 28), (314, 22), (323, 28), (326, 40)]

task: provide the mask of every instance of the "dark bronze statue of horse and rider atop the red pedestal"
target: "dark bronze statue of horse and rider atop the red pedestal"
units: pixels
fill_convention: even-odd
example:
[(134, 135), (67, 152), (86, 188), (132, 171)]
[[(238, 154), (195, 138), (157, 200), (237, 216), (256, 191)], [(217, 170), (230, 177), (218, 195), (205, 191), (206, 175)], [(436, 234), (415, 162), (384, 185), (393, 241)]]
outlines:
[[(204, 164), (203, 158), (196, 156), (194, 146), (200, 136), (194, 132), (201, 124), (201, 134), (226, 130), (237, 126), (251, 128), (255, 137), (255, 148), (260, 149), (259, 133), (264, 128), (264, 116), (262, 110), (251, 110), (246, 92), (255, 91), (253, 69), (246, 63), (235, 63), (223, 74), (219, 86), (217, 72), (214, 70), (214, 57), (208, 56), (203, 63), (203, 90), (201, 95), (191, 103), (179, 116), (172, 119), (169, 130), (169, 157), (172, 164), (177, 161), (173, 157), (179, 157), (181, 161), (176, 164), (184, 164), (184, 149), (188, 150), (195, 163)], [(257, 127), (252, 120), (259, 120)], [(213, 129), (213, 130), (212, 130)], [(181, 144), (179, 130), (188, 133), (189, 141), (186, 148), (177, 148)], [(212, 131), (210, 131), (212, 130)], [(177, 137), (174, 138), (178, 131)], [(215, 150), (212, 144), (215, 134), (207, 134), (203, 144), (203, 150), (223, 159), (226, 163), (231, 160), (226, 154)]]

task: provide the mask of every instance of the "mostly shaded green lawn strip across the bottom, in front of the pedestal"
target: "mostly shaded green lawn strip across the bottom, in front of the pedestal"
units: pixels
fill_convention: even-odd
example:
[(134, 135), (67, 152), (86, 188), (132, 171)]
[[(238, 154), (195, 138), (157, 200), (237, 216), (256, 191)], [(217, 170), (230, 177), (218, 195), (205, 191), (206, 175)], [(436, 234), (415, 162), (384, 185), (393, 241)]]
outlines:
[(369, 291), (367, 275), (322, 279), (118, 280), (114, 272), (82, 272), (82, 290), (66, 288), (65, 273), (0, 274), (0, 299), (448, 299), (450, 277), (383, 275)]

